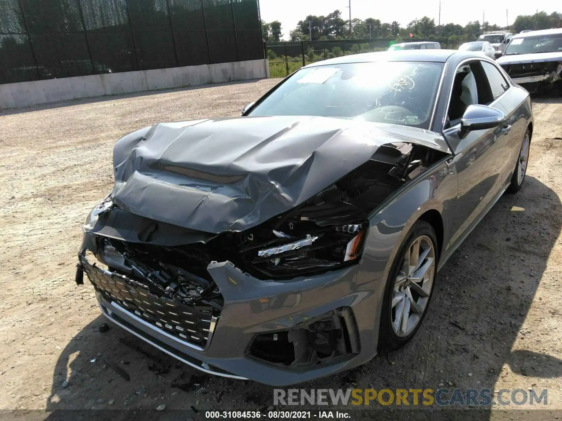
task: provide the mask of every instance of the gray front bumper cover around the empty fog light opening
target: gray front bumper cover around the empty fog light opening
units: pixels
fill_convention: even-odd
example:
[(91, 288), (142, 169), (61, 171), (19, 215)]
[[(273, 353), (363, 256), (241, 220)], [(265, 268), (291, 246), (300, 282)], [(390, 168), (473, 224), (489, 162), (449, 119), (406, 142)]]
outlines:
[[(90, 277), (88, 268), (85, 269)], [(287, 386), (351, 369), (375, 356), (380, 313), (378, 298), (382, 296), (384, 282), (357, 286), (357, 266), (291, 281), (257, 280), (230, 262), (211, 263), (208, 270), (221, 290), (224, 307), (220, 316), (212, 321), (210, 335), (203, 346), (190, 344), (170, 334), (175, 332), (147, 322), (142, 315), (126, 309), (97, 286), (96, 295), (102, 313), (112, 322), (183, 363), (217, 376)], [(248, 354), (257, 335), (290, 331), (341, 308), (351, 310), (355, 325), (357, 343), (349, 355), (322, 364), (287, 368)]]

